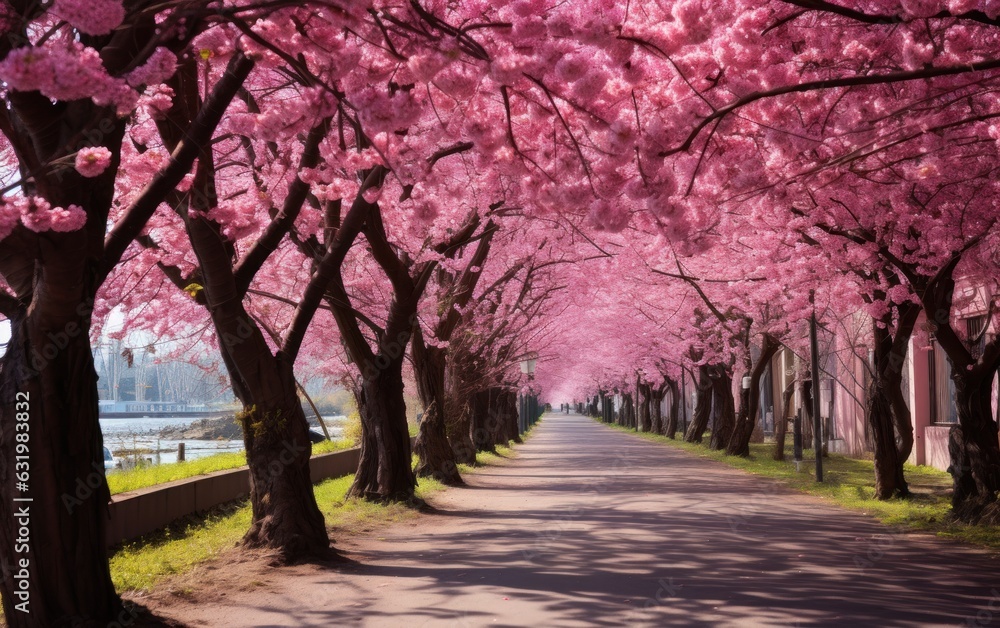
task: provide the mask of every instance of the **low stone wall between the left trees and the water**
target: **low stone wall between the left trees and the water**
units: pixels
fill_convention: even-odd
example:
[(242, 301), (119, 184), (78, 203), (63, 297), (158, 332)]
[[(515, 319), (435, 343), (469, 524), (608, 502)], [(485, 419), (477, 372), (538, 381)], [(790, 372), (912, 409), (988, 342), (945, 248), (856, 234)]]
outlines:
[[(350, 475), (357, 471), (360, 458), (360, 449), (313, 456), (309, 461), (310, 477), (313, 482), (321, 482)], [(139, 538), (187, 515), (249, 496), (250, 470), (247, 467), (113, 495), (108, 505), (111, 511), (108, 545)]]

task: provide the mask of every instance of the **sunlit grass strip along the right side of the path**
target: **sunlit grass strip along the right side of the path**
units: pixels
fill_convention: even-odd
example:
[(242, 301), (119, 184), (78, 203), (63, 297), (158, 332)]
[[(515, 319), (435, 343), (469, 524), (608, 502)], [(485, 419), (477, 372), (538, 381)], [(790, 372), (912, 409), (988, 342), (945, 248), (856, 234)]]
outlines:
[(748, 473), (779, 480), (796, 490), (871, 515), (882, 523), (1000, 549), (1000, 527), (970, 526), (951, 519), (951, 476), (932, 467), (906, 465), (906, 479), (913, 497), (883, 501), (875, 499), (875, 472), (870, 460), (830, 454), (823, 458), (824, 481), (818, 483), (811, 450), (806, 450), (804, 454), (809, 458), (808, 462), (803, 462), (801, 471), (796, 471), (791, 445), (786, 449), (784, 461), (772, 459), (773, 443), (751, 443), (750, 456), (741, 458), (711, 451), (705, 445), (671, 440), (656, 434), (636, 434), (630, 428), (616, 425), (609, 427), (683, 449), (701, 458), (717, 460)]

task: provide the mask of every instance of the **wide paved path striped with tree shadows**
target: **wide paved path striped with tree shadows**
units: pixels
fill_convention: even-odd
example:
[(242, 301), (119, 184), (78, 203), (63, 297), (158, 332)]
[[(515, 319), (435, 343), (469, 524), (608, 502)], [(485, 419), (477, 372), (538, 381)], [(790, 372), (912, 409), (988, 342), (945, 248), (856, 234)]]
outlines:
[(1000, 563), (580, 416), (195, 626), (1000, 626)]

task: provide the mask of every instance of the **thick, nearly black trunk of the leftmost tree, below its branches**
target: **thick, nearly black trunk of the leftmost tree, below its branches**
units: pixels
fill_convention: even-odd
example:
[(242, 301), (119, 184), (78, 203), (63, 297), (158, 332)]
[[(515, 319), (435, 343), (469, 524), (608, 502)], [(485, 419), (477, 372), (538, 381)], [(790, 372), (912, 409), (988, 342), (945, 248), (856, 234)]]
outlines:
[(128, 617), (108, 568), (92, 306), (84, 297), (55, 308), (54, 296), (39, 291), (30, 313), (11, 320), (0, 358), (0, 591), (10, 626), (105, 625)]

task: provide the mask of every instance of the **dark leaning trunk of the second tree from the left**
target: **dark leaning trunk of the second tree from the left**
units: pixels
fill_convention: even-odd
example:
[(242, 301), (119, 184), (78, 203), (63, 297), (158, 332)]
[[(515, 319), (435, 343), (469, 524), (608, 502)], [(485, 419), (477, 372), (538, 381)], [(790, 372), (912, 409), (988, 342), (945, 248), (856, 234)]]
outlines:
[[(195, 185), (200, 198), (214, 196), (210, 162), (200, 162)], [(326, 557), (330, 539), (313, 495), (309, 474), (312, 442), (293, 373), (294, 358), (271, 353), (260, 327), (247, 314), (236, 288), (231, 252), (218, 225), (204, 215), (186, 220), (198, 258), (207, 307), (220, 339), (241, 413), (247, 464), (250, 467), (249, 547), (277, 550), (283, 560)]]

